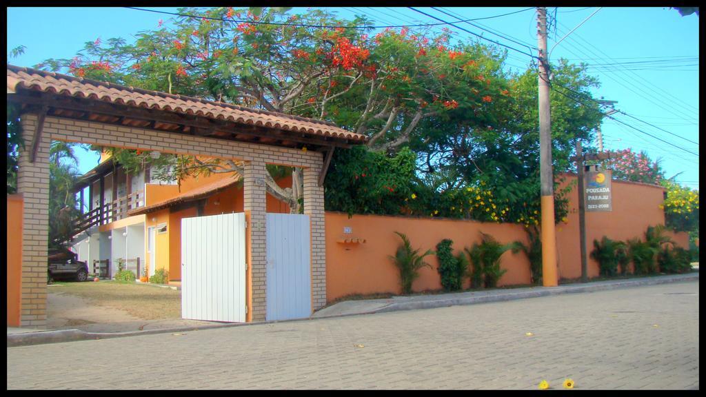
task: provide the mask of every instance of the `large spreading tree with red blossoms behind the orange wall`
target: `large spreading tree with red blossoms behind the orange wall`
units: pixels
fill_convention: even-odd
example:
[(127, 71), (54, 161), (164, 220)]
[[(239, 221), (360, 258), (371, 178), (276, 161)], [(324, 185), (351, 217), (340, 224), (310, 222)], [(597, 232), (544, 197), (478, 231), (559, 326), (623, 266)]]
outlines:
[[(180, 8), (179, 13), (229, 20), (179, 17), (174, 28), (158, 26), (139, 32), (136, 42), (99, 39), (87, 42), (73, 59), (47, 59), (40, 66), (325, 119), (369, 136), (368, 148), (379, 154), (342, 155), (345, 150), (340, 150), (334, 157), (332, 167), (337, 172), (347, 167), (354, 170), (345, 170), (344, 177), (327, 174), (327, 208), (333, 211), (537, 222), (539, 132), (534, 69), (509, 74), (503, 71), (505, 52), (478, 40), (452, 40), (450, 30), (388, 29), (373, 36), (365, 30), (344, 28), (364, 25), (368, 21), (363, 17), (343, 20), (321, 10), (297, 15), (285, 11)], [(597, 86), (584, 65), (562, 60), (552, 71), (554, 81), (581, 95), (590, 97), (590, 88)], [(573, 141), (590, 138), (600, 121), (597, 105), (583, 102), (589, 105), (551, 95), (554, 168), (558, 172), (570, 166)], [(411, 174), (405, 147), (416, 155)], [(404, 168), (375, 172), (374, 179), (367, 179), (366, 166), (359, 167), (351, 158), (364, 158), (368, 167), (398, 162)], [(180, 164), (191, 167), (193, 162), (176, 162)], [(237, 164), (223, 165), (201, 166), (210, 172), (241, 172)], [(303, 179), (301, 170), (292, 171), (292, 189), (278, 189), (270, 178), (268, 192), (295, 208), (301, 201)], [(364, 173), (366, 177), (361, 177)], [(416, 190), (406, 191), (408, 186)], [(493, 203), (473, 201), (478, 195), (469, 189), (489, 191)], [(339, 194), (344, 191), (361, 196), (345, 199)], [(416, 201), (412, 194), (418, 197)], [(566, 200), (561, 192), (556, 198), (555, 218), (561, 220), (566, 215)]]

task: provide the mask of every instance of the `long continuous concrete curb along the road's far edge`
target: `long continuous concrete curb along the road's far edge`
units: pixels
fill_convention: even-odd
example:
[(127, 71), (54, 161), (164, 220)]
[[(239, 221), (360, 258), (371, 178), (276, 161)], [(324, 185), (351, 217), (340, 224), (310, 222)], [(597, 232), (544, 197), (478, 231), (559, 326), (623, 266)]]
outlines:
[[(329, 319), (334, 317), (359, 316), (361, 314), (375, 314), (385, 312), (397, 312), (400, 310), (417, 310), (417, 309), (433, 309), (436, 307), (450, 307), (464, 304), (479, 304), (488, 302), (504, 302), (508, 300), (520, 300), (532, 297), (544, 297), (550, 295), (561, 295), (580, 292), (594, 292), (603, 290), (615, 290), (618, 288), (638, 287), (642, 285), (658, 285), (666, 283), (681, 283), (684, 281), (698, 281), (699, 273), (687, 273), (681, 275), (665, 275), (657, 277), (640, 278), (636, 280), (624, 281), (599, 281), (589, 284), (580, 285), (563, 285), (551, 288), (528, 288), (528, 290), (492, 290), (484, 292), (461, 292), (453, 295), (453, 297), (445, 298), (444, 295), (430, 295), (421, 298), (417, 297), (399, 297), (398, 302), (395, 299), (386, 300), (390, 302), (383, 307), (376, 309), (362, 309), (360, 312), (346, 314), (330, 314), (323, 316), (311, 316), (309, 319)], [(461, 295), (461, 296), (459, 296)], [(417, 298), (417, 300), (415, 300)], [(364, 302), (364, 301), (363, 301)], [(302, 321), (307, 319), (293, 319), (285, 321)], [(249, 326), (255, 324), (279, 323), (285, 321), (254, 321), (252, 323), (221, 323), (198, 327), (175, 327), (150, 329), (147, 331), (130, 331), (119, 333), (95, 333), (85, 332), (78, 329), (64, 329), (57, 331), (28, 331), (21, 333), (9, 333), (7, 336), (7, 347), (13, 348), (16, 346), (41, 345), (45, 343), (62, 343), (73, 342), (76, 340), (98, 340), (108, 338), (123, 338), (125, 336), (140, 336), (152, 335), (156, 333), (177, 333), (199, 331), (202, 329), (225, 328), (232, 326)]]

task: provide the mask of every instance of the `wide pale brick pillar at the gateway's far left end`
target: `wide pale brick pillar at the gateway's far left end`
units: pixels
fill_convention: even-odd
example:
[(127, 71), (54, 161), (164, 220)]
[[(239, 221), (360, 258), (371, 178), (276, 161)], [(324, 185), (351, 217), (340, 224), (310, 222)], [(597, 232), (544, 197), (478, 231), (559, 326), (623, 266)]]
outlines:
[(47, 240), (49, 239), (49, 145), (45, 131), (37, 148), (35, 162), (30, 162), (32, 139), (38, 117), (23, 114), (22, 135), (25, 150), (20, 148), (17, 191), (23, 194), (24, 229), (22, 232), (22, 307), (21, 326), (43, 327), (47, 324)]

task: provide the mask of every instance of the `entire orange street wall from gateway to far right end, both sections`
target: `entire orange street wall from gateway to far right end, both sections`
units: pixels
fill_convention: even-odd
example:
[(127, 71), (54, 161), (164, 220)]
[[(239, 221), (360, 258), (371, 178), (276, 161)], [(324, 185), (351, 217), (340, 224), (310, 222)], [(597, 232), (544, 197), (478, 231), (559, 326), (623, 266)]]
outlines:
[[(566, 175), (566, 183), (576, 179)], [(664, 201), (664, 189), (659, 186), (631, 182), (616, 182), (613, 186), (613, 211), (611, 213), (587, 213), (587, 251), (592, 250), (593, 239), (604, 235), (611, 239), (626, 240), (640, 237), (644, 240), (647, 226), (664, 225), (664, 212), (659, 204)], [(569, 215), (566, 223), (556, 225), (558, 273), (562, 279), (581, 276), (581, 260), (578, 230), (578, 189), (569, 195)], [(401, 244), (395, 231), (405, 233), (414, 249), (420, 251), (436, 249), (442, 239), (453, 240), (457, 253), (465, 247), (479, 242), (479, 230), (493, 235), (499, 242), (515, 240), (527, 243), (524, 227), (513, 224), (477, 223), (469, 220), (446, 220), (438, 218), (407, 218), (401, 216), (354, 215), (325, 213), (326, 222), (326, 300), (352, 294), (400, 293), (397, 268), (388, 255), (395, 254)], [(344, 235), (343, 227), (352, 227), (352, 235)], [(668, 232), (679, 247), (688, 249), (688, 234)], [(357, 237), (366, 239), (365, 244), (342, 244), (337, 239)], [(427, 256), (432, 268), (422, 268), (420, 277), (414, 281), (412, 290), (440, 290), (441, 278), (436, 268), (436, 255)], [(498, 283), (522, 285), (530, 283), (530, 264), (525, 254), (503, 254), (501, 266), (508, 269)], [(588, 258), (588, 275), (599, 275), (598, 263)], [(469, 288), (465, 280), (464, 288)]]

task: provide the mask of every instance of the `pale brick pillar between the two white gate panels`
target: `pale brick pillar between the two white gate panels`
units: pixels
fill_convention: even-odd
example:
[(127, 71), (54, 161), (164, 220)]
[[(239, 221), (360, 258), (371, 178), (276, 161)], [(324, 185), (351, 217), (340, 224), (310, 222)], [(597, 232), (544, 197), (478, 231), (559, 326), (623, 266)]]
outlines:
[(267, 208), (265, 189), (265, 162), (246, 162), (243, 176), (244, 211), (248, 227), (246, 229), (247, 246), (246, 260), (250, 271), (249, 294), (251, 307), (248, 318), (250, 321), (265, 321), (267, 290), (265, 278), (267, 273), (267, 252), (265, 234), (265, 213)]

